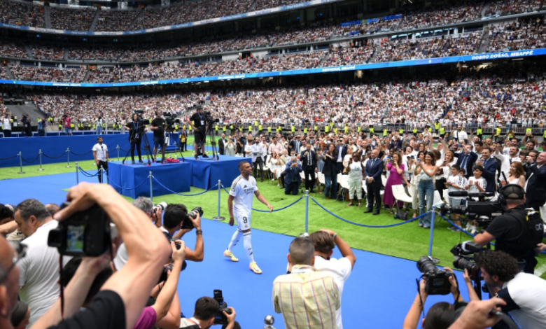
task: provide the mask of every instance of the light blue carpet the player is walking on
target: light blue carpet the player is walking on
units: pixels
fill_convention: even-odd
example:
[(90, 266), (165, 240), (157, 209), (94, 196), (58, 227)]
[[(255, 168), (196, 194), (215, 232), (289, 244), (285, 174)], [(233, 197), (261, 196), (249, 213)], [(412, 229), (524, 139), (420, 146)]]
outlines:
[[(97, 178), (80, 175), (80, 181), (97, 182)], [(33, 197), (43, 203), (59, 204), (66, 197), (62, 189), (75, 184), (75, 173), (4, 180), (0, 181), (0, 190), (8, 193), (3, 193), (0, 202), (18, 204)], [(257, 275), (248, 269), (243, 241), (234, 249), (239, 262), (230, 262), (223, 256), (237, 228), (207, 220), (203, 221), (202, 228), (204, 261), (188, 262), (180, 276), (179, 297), (183, 313), (192, 316), (195, 300), (202, 296), (212, 297), (214, 289), (221, 289), (225, 302), (237, 311), (237, 321), (242, 328), (262, 328), (267, 314), (275, 317), (276, 328), (285, 328), (282, 315), (276, 314), (272, 306), (272, 283), (276, 276), (286, 273), (286, 254), (293, 237), (252, 231), (255, 261), (263, 272)], [(183, 240), (190, 248), (195, 247), (194, 232), (188, 233)], [(416, 295), (415, 279), (420, 275), (416, 262), (367, 251), (354, 252), (357, 262), (342, 297), (344, 328), (401, 328)], [(340, 257), (337, 249), (333, 256)], [(456, 275), (458, 282), (463, 284), (461, 272)], [(461, 293), (468, 300), (466, 288), (463, 287)], [(451, 295), (430, 296), (426, 309), (440, 301), (453, 302)]]

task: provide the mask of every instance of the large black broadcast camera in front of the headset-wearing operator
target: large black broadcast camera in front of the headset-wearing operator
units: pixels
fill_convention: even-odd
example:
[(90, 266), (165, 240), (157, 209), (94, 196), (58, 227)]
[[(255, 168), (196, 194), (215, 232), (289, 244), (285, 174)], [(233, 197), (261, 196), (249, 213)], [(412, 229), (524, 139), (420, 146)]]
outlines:
[[(467, 197), (466, 206), (451, 207), (449, 204), (442, 204), (440, 207), (440, 214), (442, 216), (446, 216), (446, 214), (464, 214), (469, 220), (476, 221), (477, 225), (487, 228), (494, 218), (504, 214), (500, 202), (485, 200), (485, 197), (492, 197), (493, 193), (468, 193), (461, 191), (449, 192), (449, 196)], [(477, 197), (478, 201), (475, 201), (472, 197)]]

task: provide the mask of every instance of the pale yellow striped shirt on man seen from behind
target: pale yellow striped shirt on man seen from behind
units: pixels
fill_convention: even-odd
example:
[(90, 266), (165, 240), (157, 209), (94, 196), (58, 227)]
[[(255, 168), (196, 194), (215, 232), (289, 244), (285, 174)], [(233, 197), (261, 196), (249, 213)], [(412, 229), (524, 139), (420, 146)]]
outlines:
[(292, 274), (277, 276), (273, 282), (273, 306), (283, 314), (286, 329), (335, 329), (341, 300), (330, 274), (294, 265)]

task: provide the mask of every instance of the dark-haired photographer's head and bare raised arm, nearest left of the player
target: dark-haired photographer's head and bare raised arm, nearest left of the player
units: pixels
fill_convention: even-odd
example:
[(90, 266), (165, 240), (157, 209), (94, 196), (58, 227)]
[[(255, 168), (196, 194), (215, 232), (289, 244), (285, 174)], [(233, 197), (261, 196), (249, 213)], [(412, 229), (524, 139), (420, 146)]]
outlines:
[[(185, 221), (188, 209), (183, 204), (169, 204), (163, 214), (163, 226), (160, 230), (164, 235), (167, 235), (169, 239), (180, 239), (186, 232), (192, 230), (183, 230), (181, 226)], [(202, 262), (204, 258), (204, 243), (203, 243), (203, 231), (201, 230), (201, 217), (200, 214), (195, 214), (195, 217), (187, 216), (193, 228), (195, 228), (195, 251), (186, 247), (186, 260), (193, 260), (194, 262)], [(175, 232), (179, 231), (178, 233)]]

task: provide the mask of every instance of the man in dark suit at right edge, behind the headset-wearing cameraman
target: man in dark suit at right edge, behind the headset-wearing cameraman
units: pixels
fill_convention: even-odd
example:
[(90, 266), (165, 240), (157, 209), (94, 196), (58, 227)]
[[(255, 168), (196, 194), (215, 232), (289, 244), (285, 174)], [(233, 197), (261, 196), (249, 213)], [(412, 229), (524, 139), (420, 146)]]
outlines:
[(546, 203), (546, 152), (539, 153), (536, 162), (527, 157), (527, 162), (531, 165), (525, 174), (525, 207), (539, 211)]

